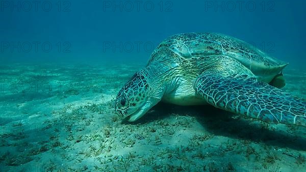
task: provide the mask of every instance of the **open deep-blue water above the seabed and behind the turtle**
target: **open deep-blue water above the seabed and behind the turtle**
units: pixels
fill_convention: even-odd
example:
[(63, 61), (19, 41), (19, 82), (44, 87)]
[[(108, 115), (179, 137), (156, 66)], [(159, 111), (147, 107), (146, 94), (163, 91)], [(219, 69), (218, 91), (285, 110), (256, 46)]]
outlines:
[(305, 63), (304, 1), (1, 3), (2, 63), (145, 63), (163, 39), (187, 32), (231, 35), (277, 59)]

